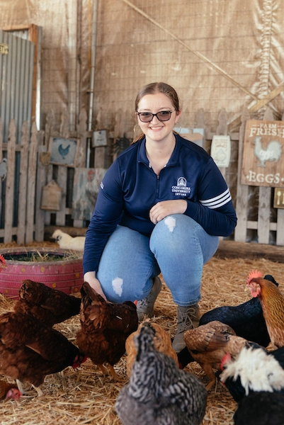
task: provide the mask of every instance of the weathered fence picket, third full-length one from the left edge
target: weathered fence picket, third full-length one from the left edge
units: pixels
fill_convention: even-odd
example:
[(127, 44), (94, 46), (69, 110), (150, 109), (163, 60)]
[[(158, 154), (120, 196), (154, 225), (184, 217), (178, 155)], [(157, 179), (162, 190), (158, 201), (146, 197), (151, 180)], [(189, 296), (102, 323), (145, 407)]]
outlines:
[(32, 126), (28, 155), (28, 191), (27, 191), (27, 220), (25, 242), (33, 242), (33, 229), (35, 220), (35, 176), (38, 159), (38, 130), (36, 124)]

